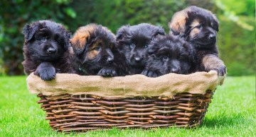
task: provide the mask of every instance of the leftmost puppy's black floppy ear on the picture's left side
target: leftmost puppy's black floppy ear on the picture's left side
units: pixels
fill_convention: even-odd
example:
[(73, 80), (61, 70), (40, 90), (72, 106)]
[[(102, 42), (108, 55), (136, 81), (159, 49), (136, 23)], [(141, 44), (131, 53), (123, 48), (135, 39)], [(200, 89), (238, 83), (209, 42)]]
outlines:
[(25, 37), (25, 40), (31, 40), (36, 30), (38, 30), (38, 25), (25, 25), (22, 29), (22, 33)]

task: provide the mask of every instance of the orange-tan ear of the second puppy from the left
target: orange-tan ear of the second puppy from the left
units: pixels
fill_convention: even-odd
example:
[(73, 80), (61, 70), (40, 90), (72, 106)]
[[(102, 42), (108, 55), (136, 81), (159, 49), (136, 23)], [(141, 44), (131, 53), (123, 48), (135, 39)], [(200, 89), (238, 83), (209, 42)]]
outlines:
[(85, 50), (85, 44), (87, 44), (87, 40), (90, 39), (90, 33), (87, 32), (83, 35), (75, 34), (72, 39), (70, 39), (70, 43), (73, 47), (75, 54), (82, 54)]

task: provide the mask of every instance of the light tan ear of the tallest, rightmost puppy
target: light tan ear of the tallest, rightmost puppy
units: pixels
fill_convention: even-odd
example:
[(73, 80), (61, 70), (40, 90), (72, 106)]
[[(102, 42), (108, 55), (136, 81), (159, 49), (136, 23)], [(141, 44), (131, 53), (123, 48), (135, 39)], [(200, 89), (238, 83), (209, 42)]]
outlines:
[(169, 23), (169, 28), (174, 35), (183, 35), (186, 30), (186, 20), (188, 18), (188, 13), (186, 10), (178, 11), (174, 13), (171, 22)]

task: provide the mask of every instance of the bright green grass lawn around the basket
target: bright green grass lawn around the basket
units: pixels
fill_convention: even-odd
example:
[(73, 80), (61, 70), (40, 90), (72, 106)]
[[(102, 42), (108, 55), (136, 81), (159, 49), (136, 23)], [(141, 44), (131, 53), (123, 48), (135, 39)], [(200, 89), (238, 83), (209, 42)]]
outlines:
[[(0, 77), (0, 136), (73, 136), (50, 129), (26, 77)], [(75, 136), (256, 136), (255, 77), (228, 77), (196, 129), (89, 131)]]

